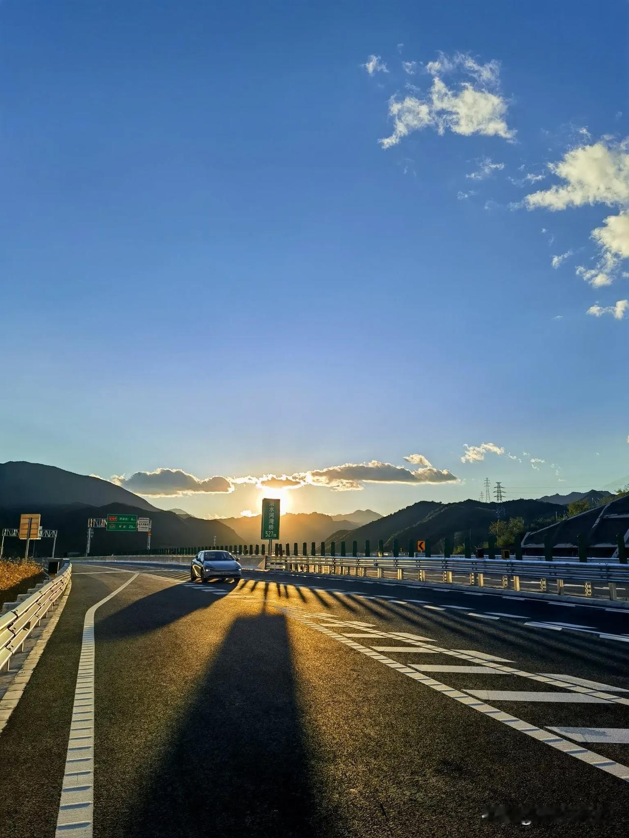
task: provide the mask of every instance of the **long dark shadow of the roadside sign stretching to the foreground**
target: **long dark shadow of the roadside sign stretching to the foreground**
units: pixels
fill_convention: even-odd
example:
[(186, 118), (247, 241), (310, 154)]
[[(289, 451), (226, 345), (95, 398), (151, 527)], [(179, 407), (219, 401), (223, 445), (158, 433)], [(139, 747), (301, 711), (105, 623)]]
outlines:
[(330, 834), (314, 824), (283, 615), (233, 620), (192, 692), (158, 764), (135, 779), (135, 801), (118, 812), (115, 829), (107, 814), (112, 835)]

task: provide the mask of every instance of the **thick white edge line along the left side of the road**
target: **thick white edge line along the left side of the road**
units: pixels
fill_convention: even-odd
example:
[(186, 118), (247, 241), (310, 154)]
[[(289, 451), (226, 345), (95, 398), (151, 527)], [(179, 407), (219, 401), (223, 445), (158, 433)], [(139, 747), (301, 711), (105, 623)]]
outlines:
[(81, 639), (81, 657), (76, 674), (70, 738), (65, 757), (56, 838), (91, 838), (94, 819), (94, 614), (138, 577), (127, 579), (115, 591), (86, 611)]

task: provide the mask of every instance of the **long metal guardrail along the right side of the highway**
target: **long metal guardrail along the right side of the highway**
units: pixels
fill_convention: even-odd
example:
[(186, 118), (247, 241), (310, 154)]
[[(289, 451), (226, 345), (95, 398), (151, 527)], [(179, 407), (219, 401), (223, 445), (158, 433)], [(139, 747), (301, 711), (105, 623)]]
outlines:
[[(272, 557), (269, 570), (493, 587), (530, 593), (629, 600), (629, 566), (606, 562), (465, 558)], [(553, 584), (555, 589), (549, 586)], [(602, 592), (601, 592), (602, 588)], [(576, 589), (576, 590), (574, 590)]]

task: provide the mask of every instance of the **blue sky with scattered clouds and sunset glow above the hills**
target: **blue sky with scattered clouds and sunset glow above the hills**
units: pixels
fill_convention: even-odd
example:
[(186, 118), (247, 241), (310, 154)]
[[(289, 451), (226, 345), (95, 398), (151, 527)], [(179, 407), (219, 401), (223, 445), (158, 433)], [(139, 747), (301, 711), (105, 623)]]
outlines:
[(624, 479), (627, 23), (6, 0), (0, 459), (199, 515)]

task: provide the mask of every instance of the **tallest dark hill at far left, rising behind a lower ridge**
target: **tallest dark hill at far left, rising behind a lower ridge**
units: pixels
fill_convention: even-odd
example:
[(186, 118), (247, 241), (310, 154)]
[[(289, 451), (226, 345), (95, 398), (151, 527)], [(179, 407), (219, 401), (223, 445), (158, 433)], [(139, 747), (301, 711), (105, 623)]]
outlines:
[(155, 510), (148, 500), (99, 477), (23, 460), (0, 463), (0, 505), (3, 508), (39, 512), (41, 506), (59, 504), (127, 504), (143, 511)]

